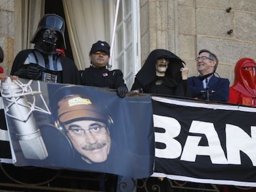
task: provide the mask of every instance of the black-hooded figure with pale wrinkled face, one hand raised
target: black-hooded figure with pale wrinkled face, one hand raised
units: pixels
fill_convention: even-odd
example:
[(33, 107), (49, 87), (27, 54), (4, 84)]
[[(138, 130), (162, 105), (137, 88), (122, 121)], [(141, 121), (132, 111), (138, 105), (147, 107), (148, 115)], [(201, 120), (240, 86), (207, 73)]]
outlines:
[(135, 76), (131, 90), (140, 90), (143, 93), (186, 96), (187, 77), (183, 78), (181, 72), (187, 69), (185, 66), (185, 62), (173, 52), (166, 49), (155, 49), (150, 52), (142, 69)]

